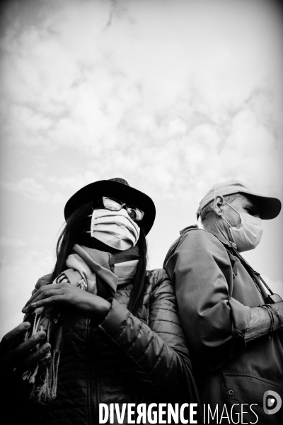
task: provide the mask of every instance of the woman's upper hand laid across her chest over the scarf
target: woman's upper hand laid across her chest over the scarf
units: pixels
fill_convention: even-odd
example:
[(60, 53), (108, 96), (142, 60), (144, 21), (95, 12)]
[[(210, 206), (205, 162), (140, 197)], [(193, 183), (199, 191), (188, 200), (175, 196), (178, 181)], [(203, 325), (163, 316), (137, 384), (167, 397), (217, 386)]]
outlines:
[(23, 307), (23, 313), (30, 313), (37, 307), (62, 305), (71, 307), (81, 316), (103, 320), (110, 310), (110, 302), (98, 295), (81, 290), (70, 283), (44, 285), (30, 297)]

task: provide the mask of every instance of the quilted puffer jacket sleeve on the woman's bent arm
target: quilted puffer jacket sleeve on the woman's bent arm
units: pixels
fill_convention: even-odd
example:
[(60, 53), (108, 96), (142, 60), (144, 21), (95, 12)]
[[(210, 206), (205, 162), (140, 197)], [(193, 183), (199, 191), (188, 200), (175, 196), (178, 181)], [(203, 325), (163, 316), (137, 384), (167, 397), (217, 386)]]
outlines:
[[(187, 392), (190, 356), (177, 314), (175, 293), (164, 270), (152, 271), (149, 326), (116, 300), (98, 333), (120, 350), (133, 373), (159, 397)], [(190, 379), (189, 379), (190, 380)], [(191, 402), (194, 401), (191, 399)]]

